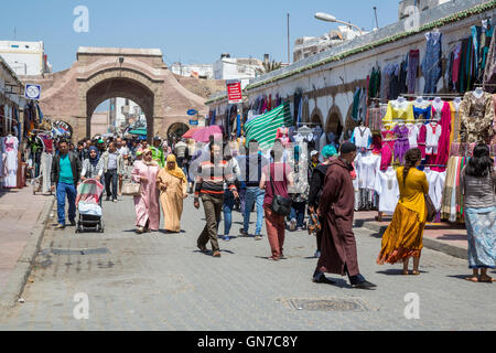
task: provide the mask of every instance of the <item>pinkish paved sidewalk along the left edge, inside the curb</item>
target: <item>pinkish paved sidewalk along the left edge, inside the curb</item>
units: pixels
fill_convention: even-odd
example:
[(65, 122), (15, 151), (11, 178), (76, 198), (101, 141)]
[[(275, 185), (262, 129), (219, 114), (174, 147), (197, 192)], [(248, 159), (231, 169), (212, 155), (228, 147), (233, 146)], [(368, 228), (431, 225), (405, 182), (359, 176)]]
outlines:
[(53, 200), (31, 186), (0, 190), (0, 301), (24, 286)]

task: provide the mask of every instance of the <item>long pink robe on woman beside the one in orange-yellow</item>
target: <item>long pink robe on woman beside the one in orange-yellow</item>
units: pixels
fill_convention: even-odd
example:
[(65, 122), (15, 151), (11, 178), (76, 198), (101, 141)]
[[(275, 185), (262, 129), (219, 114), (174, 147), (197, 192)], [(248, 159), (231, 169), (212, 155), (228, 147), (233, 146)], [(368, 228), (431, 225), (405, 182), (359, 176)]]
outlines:
[(159, 231), (160, 208), (159, 190), (157, 189), (157, 174), (160, 167), (158, 164), (147, 165), (142, 161), (136, 161), (131, 178), (139, 182), (140, 176), (148, 179), (148, 182), (141, 183), (141, 195), (134, 196), (136, 225), (144, 227), (150, 221), (148, 227), (151, 231)]

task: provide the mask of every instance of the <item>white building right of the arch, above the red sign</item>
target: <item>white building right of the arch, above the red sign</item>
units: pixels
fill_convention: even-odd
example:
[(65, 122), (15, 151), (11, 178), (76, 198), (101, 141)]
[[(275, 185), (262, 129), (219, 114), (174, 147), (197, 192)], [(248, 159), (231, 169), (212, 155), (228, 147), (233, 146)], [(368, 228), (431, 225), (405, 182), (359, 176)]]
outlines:
[(215, 79), (240, 79), (241, 88), (258, 75), (258, 71), (263, 72), (263, 65), (257, 58), (235, 58), (229, 54), (222, 54), (214, 63)]

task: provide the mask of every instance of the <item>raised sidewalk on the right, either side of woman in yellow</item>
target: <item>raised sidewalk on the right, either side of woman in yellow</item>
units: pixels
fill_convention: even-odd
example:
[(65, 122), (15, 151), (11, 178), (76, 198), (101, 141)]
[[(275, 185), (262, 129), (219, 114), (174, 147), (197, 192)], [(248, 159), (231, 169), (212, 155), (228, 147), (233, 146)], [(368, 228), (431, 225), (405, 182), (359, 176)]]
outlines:
[[(355, 212), (355, 226), (365, 227), (382, 235), (391, 221), (391, 216), (382, 216), (382, 222), (377, 222), (376, 211)], [(466, 229), (463, 224), (428, 223), (423, 232), (423, 246), (448, 255), (466, 259)]]

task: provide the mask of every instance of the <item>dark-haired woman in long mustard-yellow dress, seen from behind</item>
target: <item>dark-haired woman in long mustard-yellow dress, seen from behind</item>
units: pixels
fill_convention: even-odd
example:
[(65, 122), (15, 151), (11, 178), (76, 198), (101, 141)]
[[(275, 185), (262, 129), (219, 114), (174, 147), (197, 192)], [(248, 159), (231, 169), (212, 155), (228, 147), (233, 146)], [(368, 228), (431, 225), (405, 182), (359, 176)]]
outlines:
[(408, 275), (408, 263), (410, 257), (413, 257), (412, 275), (420, 275), (420, 253), (427, 220), (424, 195), (429, 193), (429, 184), (425, 173), (417, 169), (422, 160), (420, 149), (409, 150), (405, 159), (405, 167), (400, 167), (396, 171), (400, 199), (392, 221), (382, 235), (377, 264), (402, 261), (403, 275)]

